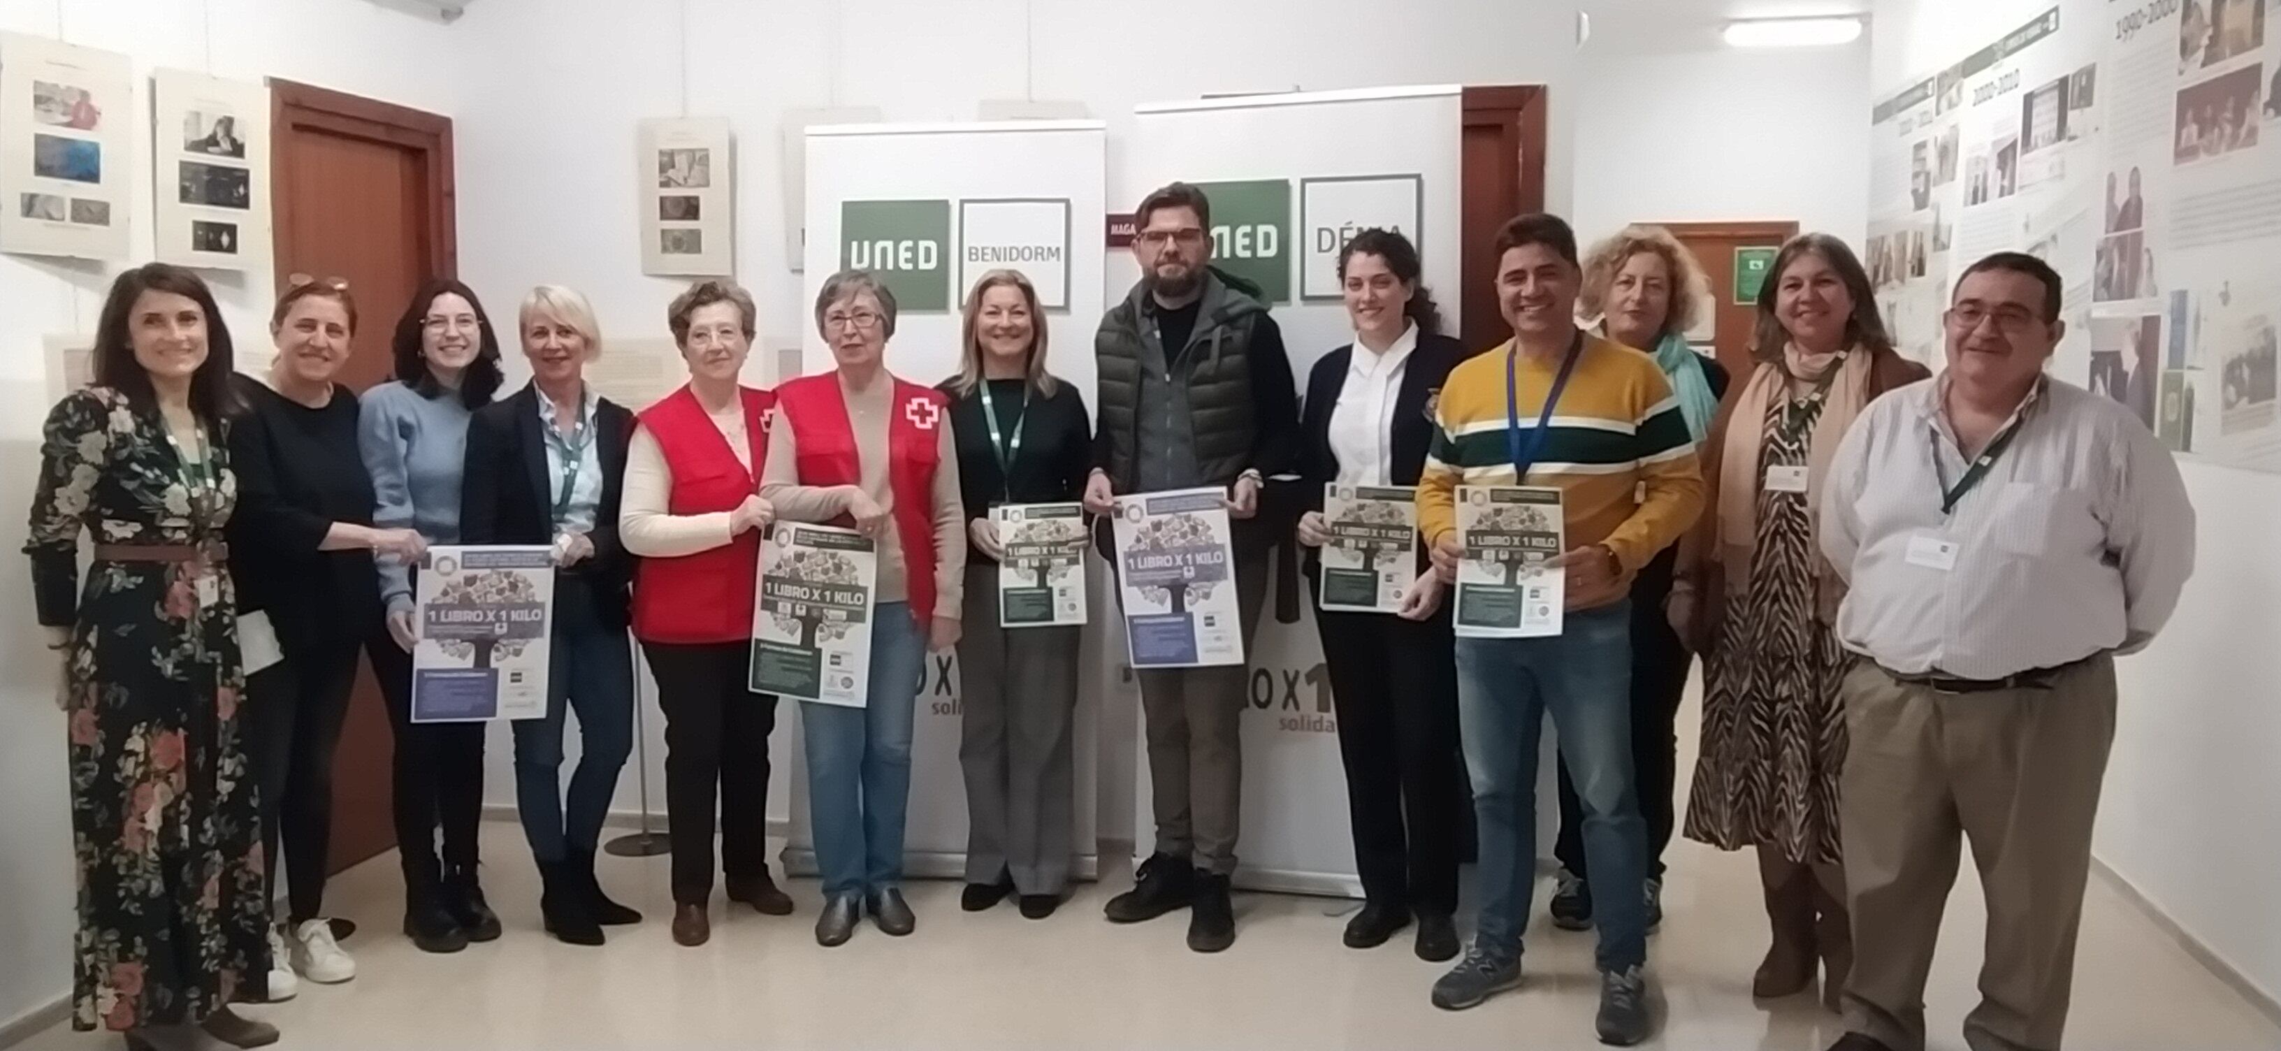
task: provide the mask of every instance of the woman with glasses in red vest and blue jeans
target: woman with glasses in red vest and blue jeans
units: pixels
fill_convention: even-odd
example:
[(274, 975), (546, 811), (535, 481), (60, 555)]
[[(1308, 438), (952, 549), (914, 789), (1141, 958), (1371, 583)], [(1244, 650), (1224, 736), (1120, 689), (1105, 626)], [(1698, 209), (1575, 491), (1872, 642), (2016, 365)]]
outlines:
[(858, 907), (887, 935), (917, 926), (901, 891), (910, 718), (926, 650), (958, 645), (967, 522), (949, 399), (883, 362), (894, 294), (871, 274), (833, 274), (817, 294), (817, 328), (837, 369), (778, 388), (760, 495), (789, 522), (853, 527), (878, 545), (864, 707), (801, 709), (823, 871), (817, 944), (837, 946), (855, 932)]

